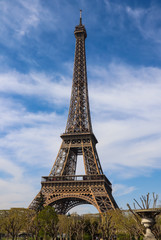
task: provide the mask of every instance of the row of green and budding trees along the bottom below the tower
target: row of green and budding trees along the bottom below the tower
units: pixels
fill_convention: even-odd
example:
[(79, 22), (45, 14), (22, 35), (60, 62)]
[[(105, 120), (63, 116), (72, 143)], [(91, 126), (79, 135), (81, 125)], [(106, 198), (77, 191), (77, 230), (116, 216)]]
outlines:
[[(153, 229), (156, 239), (161, 239), (161, 216)], [(53, 207), (39, 212), (14, 208), (0, 211), (0, 233), (15, 240), (20, 233), (28, 239), (54, 239), (58, 234), (69, 240), (115, 239), (142, 240), (140, 225), (129, 211), (109, 210), (103, 215), (59, 215)]]

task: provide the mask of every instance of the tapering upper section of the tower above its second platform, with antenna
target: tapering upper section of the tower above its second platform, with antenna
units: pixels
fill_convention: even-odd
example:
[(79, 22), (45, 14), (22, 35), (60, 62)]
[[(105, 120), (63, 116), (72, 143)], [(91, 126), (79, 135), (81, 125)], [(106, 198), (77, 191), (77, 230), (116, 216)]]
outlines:
[(75, 59), (73, 71), (72, 93), (69, 115), (65, 133), (92, 132), (89, 110), (85, 39), (85, 26), (82, 25), (82, 10), (80, 10), (80, 24), (75, 27)]

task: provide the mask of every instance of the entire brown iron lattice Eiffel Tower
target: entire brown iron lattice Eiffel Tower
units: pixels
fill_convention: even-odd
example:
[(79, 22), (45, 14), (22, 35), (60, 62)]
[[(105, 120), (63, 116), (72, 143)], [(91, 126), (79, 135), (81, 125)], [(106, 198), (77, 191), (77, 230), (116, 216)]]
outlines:
[[(118, 206), (112, 196), (112, 185), (103, 174), (96, 150), (97, 139), (92, 131), (85, 55), (87, 33), (81, 11), (74, 34), (75, 59), (67, 125), (51, 172), (42, 177), (40, 192), (45, 196), (45, 205), (54, 206), (59, 214), (66, 214), (81, 204), (92, 204), (103, 213)], [(76, 175), (78, 155), (83, 156), (85, 175)], [(29, 208), (34, 208), (40, 192)]]

